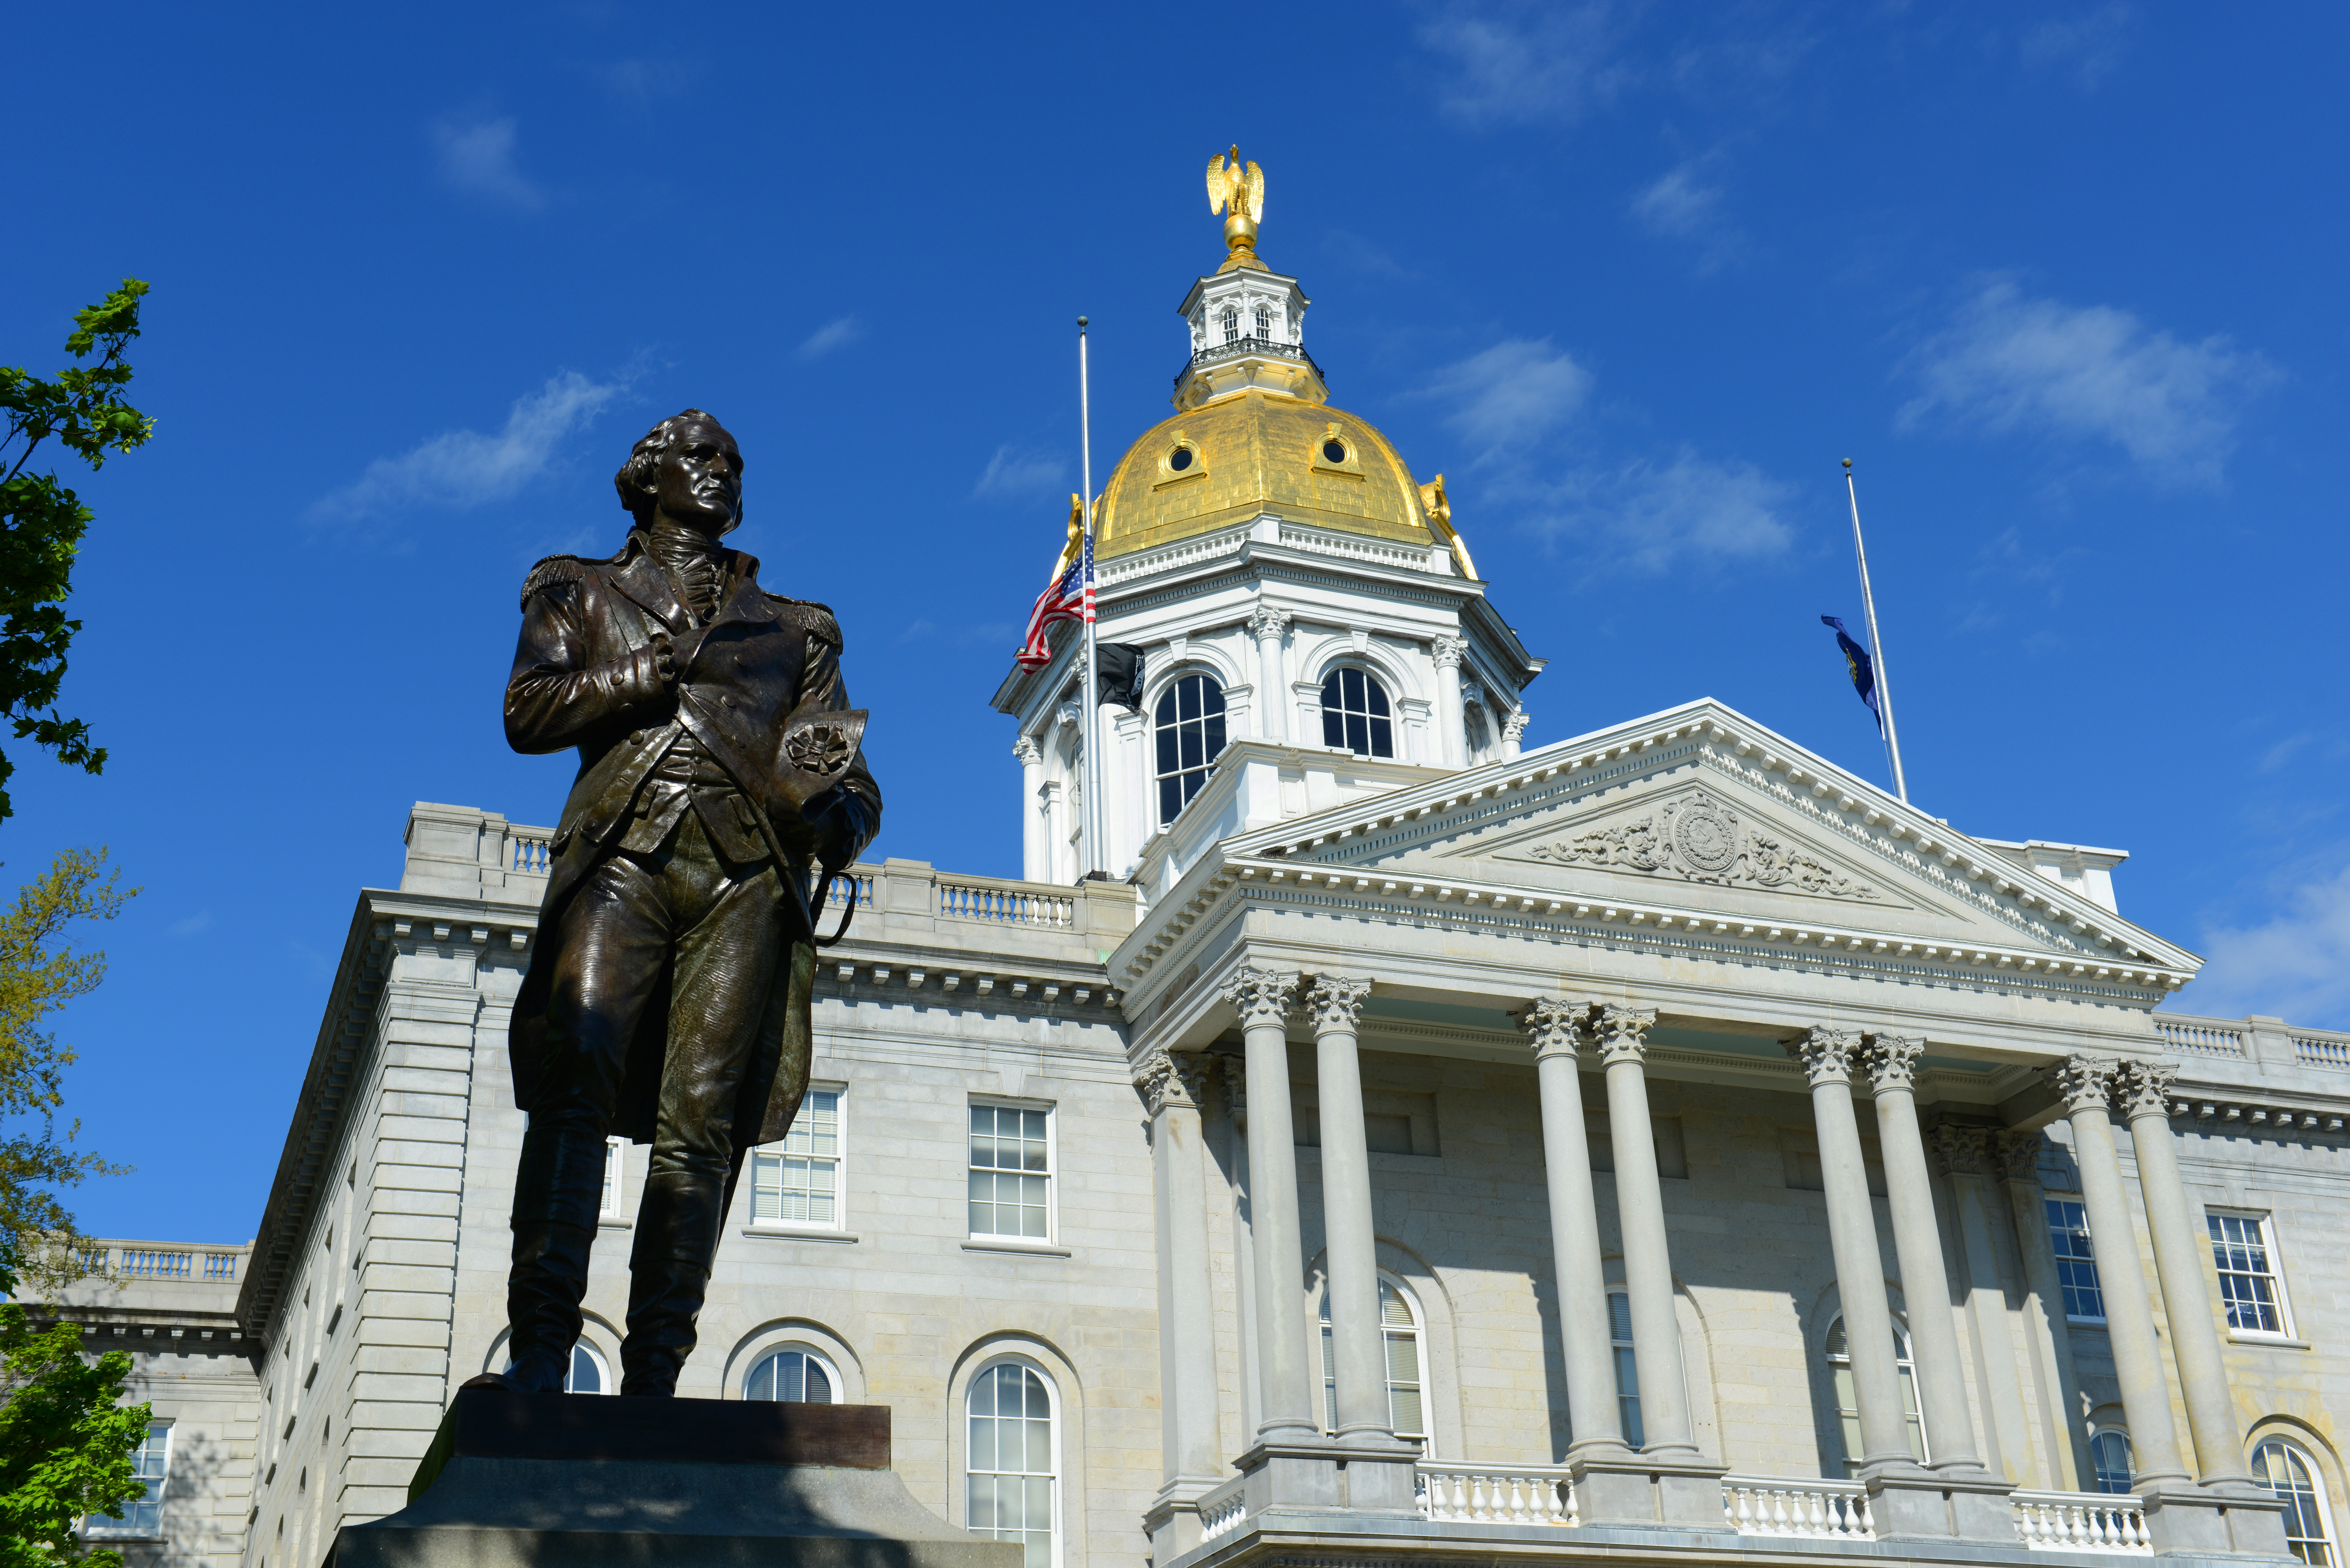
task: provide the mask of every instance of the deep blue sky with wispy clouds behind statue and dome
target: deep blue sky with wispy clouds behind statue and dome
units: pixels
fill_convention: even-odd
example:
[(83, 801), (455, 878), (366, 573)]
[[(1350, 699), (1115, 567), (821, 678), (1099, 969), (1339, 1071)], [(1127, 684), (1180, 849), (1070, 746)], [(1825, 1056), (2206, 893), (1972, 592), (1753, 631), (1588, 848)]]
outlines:
[[(1076, 475), (1163, 416), (1201, 193), (1528, 646), (1528, 743), (1716, 696), (1882, 778), (1821, 614), (1861, 475), (1918, 804), (2131, 851), (2174, 1006), (2350, 1027), (2341, 7), (548, 5), (14, 26), (0, 360), (155, 284), (85, 496), (68, 712), (0, 858), (146, 886), (61, 1023), (96, 1234), (251, 1234), (409, 802), (552, 823), (515, 592), (707, 407), (738, 543), (837, 607), (874, 853), (1015, 875), (987, 708)], [(2331, 148), (2331, 153), (2326, 150)], [(2331, 174), (2326, 174), (2331, 169)], [(28, 221), (35, 214), (40, 221)]]

